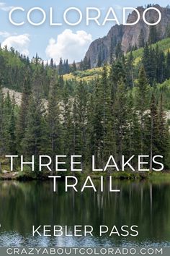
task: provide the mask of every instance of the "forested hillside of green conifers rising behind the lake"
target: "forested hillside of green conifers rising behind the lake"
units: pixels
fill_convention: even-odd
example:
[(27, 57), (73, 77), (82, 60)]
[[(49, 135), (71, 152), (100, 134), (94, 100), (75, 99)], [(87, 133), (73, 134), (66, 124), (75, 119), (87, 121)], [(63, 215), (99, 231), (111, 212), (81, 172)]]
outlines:
[[(18, 106), (0, 91), (1, 169), (3, 155), (9, 154), (28, 161), (30, 155), (83, 155), (86, 171), (91, 155), (100, 166), (115, 155), (121, 167), (122, 155), (161, 154), (170, 168), (165, 114), (170, 109), (169, 40), (146, 44), (126, 56), (120, 48), (110, 64), (74, 70), (71, 79), (37, 56), (30, 61), (13, 48), (1, 49), (1, 85), (22, 92)], [(94, 73), (86, 80), (88, 72)], [(133, 165), (138, 169), (137, 157)], [(40, 176), (36, 166), (35, 174)]]

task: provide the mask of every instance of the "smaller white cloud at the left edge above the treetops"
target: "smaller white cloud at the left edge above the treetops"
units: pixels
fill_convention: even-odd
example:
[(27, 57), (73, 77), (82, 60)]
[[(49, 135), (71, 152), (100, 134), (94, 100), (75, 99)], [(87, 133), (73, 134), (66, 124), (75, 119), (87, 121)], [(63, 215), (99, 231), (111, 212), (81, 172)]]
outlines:
[(6, 38), (4, 42), (1, 43), (1, 47), (7, 46), (7, 48), (14, 47), (15, 50), (19, 51), (19, 53), (28, 55), (28, 47), (30, 44), (30, 35), (23, 34), (23, 35), (15, 35), (9, 36)]

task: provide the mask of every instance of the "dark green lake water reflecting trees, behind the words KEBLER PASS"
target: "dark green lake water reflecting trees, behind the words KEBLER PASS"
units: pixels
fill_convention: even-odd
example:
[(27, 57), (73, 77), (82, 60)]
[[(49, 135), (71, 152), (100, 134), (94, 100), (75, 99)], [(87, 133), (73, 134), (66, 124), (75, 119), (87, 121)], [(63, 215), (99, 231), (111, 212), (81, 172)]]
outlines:
[[(0, 246), (170, 245), (170, 182), (116, 182), (120, 193), (64, 191), (51, 182), (0, 182)], [(94, 236), (32, 236), (32, 225), (91, 225)], [(138, 225), (138, 237), (99, 236), (99, 225)]]

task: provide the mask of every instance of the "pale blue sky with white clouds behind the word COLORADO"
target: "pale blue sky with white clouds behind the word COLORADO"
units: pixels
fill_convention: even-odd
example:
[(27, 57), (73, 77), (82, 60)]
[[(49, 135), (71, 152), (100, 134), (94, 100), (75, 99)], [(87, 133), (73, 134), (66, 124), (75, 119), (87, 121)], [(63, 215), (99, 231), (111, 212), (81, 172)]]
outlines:
[[(168, 0), (141, 1), (141, 0), (0, 0), (0, 42), (1, 46), (14, 47), (17, 51), (32, 59), (38, 54), (42, 59), (48, 61), (53, 58), (56, 64), (59, 59), (81, 61), (89, 48), (90, 43), (107, 35), (114, 22), (107, 22), (105, 25), (97, 25), (91, 22), (86, 25), (86, 7), (97, 7), (101, 11), (99, 21), (103, 22), (109, 7), (113, 7), (121, 22), (122, 7), (139, 7), (147, 4), (160, 4), (166, 7)], [(24, 8), (24, 12), (17, 11), (12, 14), (15, 22), (24, 21), (24, 25), (12, 25), (9, 21), (9, 12), (14, 7)], [(46, 14), (45, 22), (40, 26), (33, 26), (27, 22), (27, 12), (32, 7), (40, 7)], [(53, 22), (63, 23), (61, 26), (50, 26), (50, 7), (53, 7)], [(63, 13), (69, 7), (76, 7), (83, 14), (82, 22), (79, 25), (71, 26), (63, 21)], [(95, 12), (91, 15), (96, 14)], [(76, 22), (79, 17), (75, 11), (68, 12), (68, 20)], [(30, 18), (33, 22), (40, 22), (42, 14), (38, 11), (32, 12)]]

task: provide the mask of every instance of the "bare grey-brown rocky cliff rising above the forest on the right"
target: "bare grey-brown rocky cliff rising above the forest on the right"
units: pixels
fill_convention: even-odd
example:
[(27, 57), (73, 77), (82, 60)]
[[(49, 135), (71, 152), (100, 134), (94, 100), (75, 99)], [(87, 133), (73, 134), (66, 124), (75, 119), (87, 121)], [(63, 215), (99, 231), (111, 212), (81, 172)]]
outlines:
[[(162, 18), (161, 22), (156, 25), (156, 30), (158, 33), (158, 40), (165, 38), (167, 27), (170, 25), (170, 9), (160, 7), (159, 5), (154, 5), (157, 9), (161, 11)], [(109, 33), (103, 38), (99, 38), (94, 40), (89, 46), (88, 51), (86, 52), (86, 57), (91, 61), (91, 67), (97, 67), (97, 63), (99, 59), (101, 59), (102, 63), (104, 61), (109, 61), (111, 52), (114, 56), (115, 48), (117, 43), (121, 43), (122, 51), (127, 52), (128, 48), (132, 48), (134, 46), (138, 46), (138, 40), (140, 31), (143, 31), (143, 38), (145, 41), (148, 41), (150, 27), (143, 22), (142, 14), (145, 10), (143, 7), (138, 7), (138, 11), (140, 12), (140, 20), (138, 24), (130, 26), (130, 25), (115, 25), (110, 30)], [(148, 22), (156, 22), (158, 20), (158, 13), (153, 10), (148, 10), (146, 12), (146, 20)], [(136, 12), (133, 11), (128, 15), (127, 22), (132, 23), (136, 20)], [(155, 27), (155, 26), (154, 26)]]

